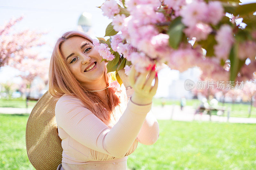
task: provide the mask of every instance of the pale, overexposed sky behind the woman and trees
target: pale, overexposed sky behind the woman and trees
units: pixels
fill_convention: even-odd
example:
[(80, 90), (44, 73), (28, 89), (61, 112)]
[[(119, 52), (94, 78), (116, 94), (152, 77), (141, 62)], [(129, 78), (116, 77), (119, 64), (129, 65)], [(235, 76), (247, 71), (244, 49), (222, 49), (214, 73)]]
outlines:
[[(240, 1), (243, 3), (256, 2), (256, 0)], [(12, 17), (18, 18), (21, 15), (25, 15), (25, 17), (18, 22), (14, 28), (17, 31), (25, 29), (38, 30), (39, 32), (48, 31), (49, 33), (42, 37), (42, 40), (45, 41), (47, 45), (36, 48), (36, 52), (41, 56), (50, 58), (53, 45), (57, 38), (64, 32), (76, 30), (78, 18), (84, 11), (92, 14), (92, 30), (94, 35), (97, 37), (103, 37), (105, 35), (105, 29), (111, 20), (103, 16), (102, 11), (96, 7), (100, 6), (103, 2), (104, 0), (2, 1), (0, 4), (0, 26), (3, 26)], [(16, 71), (9, 67), (1, 68), (0, 82), (12, 79), (15, 74)], [(171, 71), (169, 68), (163, 69), (158, 75), (158, 93), (163, 94), (171, 80), (178, 78), (177, 71)], [(164, 80), (166, 79), (166, 76), (169, 77), (168, 82), (165, 82)]]

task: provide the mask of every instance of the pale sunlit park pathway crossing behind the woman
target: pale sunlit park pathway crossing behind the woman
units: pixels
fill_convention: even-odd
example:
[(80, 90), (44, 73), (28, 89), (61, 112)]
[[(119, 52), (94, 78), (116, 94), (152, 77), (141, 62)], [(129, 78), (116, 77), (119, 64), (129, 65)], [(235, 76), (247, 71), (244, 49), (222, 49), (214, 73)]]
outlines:
[[(177, 121), (210, 121), (209, 115), (195, 115), (195, 109), (192, 106), (186, 106), (181, 111), (180, 106), (165, 105), (152, 106), (153, 115), (158, 120), (177, 120)], [(13, 108), (13, 107), (0, 107), (0, 114), (28, 114), (32, 108)], [(212, 122), (230, 122), (230, 123), (256, 123), (256, 118), (242, 118), (242, 117), (224, 117), (212, 115)]]

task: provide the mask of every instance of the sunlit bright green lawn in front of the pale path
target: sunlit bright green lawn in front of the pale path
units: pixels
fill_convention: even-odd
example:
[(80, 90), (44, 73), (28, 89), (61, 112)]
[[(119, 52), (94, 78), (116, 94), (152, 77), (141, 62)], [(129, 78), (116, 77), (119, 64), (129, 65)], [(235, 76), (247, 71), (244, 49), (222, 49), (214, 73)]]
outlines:
[[(26, 152), (28, 115), (0, 115), (0, 169), (34, 169)], [(132, 170), (255, 169), (256, 124), (158, 120), (160, 136), (128, 156)]]

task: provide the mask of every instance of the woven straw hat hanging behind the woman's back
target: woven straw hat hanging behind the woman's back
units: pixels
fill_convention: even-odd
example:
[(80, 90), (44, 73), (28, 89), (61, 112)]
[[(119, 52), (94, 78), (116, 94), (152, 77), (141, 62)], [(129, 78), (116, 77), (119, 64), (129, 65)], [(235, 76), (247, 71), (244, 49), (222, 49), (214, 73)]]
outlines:
[(61, 139), (55, 120), (57, 100), (47, 91), (28, 117), (26, 147), (28, 159), (39, 169), (56, 170), (62, 160)]

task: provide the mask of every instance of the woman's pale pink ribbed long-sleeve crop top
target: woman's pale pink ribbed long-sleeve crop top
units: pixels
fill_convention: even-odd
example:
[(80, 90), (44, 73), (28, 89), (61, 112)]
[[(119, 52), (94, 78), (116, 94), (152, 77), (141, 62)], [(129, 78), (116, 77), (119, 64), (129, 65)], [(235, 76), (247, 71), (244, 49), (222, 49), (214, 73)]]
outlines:
[[(159, 126), (151, 104), (137, 105), (130, 100), (133, 89), (123, 93), (121, 116), (106, 125), (83, 103), (64, 94), (55, 107), (59, 136), (62, 139), (62, 162), (68, 164), (113, 163), (127, 160), (138, 142), (156, 143)], [(120, 98), (120, 99), (121, 99)], [(124, 110), (125, 109), (125, 110)]]

